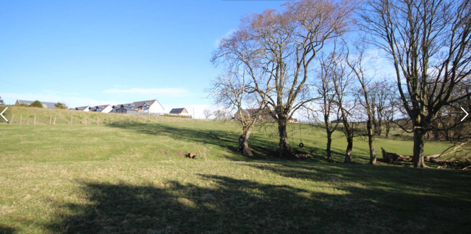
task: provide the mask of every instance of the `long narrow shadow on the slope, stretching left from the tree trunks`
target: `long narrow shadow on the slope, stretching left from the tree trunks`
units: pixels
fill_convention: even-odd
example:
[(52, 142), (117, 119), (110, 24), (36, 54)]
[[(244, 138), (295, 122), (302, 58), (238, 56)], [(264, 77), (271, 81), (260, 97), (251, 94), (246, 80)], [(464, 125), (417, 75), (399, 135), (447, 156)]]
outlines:
[[(223, 130), (202, 130), (202, 129), (188, 129), (181, 126), (169, 126), (162, 124), (145, 124), (145, 123), (128, 123), (128, 124), (111, 124), (107, 125), (112, 128), (125, 129), (129, 131), (135, 131), (138, 133), (145, 133), (155, 136), (167, 136), (177, 140), (183, 141), (194, 141), (209, 145), (218, 145), (229, 149), (230, 151), (238, 151), (238, 135), (228, 134)], [(276, 158), (277, 153), (277, 141), (278, 138), (270, 139), (268, 137), (262, 137), (260, 135), (252, 135), (249, 139), (249, 145), (254, 159), (273, 159)], [(305, 145), (309, 145), (306, 144)], [(299, 148), (297, 145), (292, 145), (293, 150), (309, 151), (314, 155), (315, 161), (322, 160), (326, 161), (325, 150), (317, 148), (315, 146), (305, 146)], [(332, 151), (333, 156), (343, 157), (343, 153)]]

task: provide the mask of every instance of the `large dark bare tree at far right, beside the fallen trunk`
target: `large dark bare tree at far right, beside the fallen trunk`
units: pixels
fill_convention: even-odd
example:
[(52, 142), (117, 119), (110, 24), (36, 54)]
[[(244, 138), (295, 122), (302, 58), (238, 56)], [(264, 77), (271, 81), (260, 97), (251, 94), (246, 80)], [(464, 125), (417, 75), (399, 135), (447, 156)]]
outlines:
[[(424, 136), (470, 75), (470, 0), (366, 0), (363, 30), (394, 65), (402, 108), (412, 121), (414, 167), (425, 167)], [(403, 83), (404, 82), (404, 83)]]

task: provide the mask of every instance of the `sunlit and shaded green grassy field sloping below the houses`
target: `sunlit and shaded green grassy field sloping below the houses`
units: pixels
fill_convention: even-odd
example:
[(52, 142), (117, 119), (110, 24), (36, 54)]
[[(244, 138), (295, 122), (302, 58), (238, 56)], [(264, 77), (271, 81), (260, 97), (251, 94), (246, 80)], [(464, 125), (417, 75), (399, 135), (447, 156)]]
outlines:
[(305, 161), (275, 159), (260, 131), (242, 157), (234, 123), (0, 124), (0, 233), (469, 233), (470, 171), (367, 165), (360, 138), (343, 164), (340, 135), (327, 163), (322, 132), (293, 125), (290, 140), (300, 126)]

